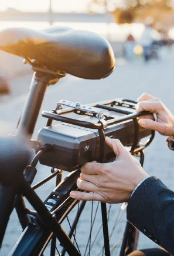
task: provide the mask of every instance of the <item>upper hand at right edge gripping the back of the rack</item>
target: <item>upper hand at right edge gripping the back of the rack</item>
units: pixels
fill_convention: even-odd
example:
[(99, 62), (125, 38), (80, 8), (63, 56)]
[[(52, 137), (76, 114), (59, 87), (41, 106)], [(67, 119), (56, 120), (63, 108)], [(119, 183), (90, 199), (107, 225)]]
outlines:
[(174, 116), (162, 103), (161, 99), (149, 94), (142, 94), (138, 98), (137, 111), (150, 111), (156, 114), (156, 121), (149, 116), (139, 118), (139, 125), (144, 128), (153, 129), (162, 135), (174, 137)]

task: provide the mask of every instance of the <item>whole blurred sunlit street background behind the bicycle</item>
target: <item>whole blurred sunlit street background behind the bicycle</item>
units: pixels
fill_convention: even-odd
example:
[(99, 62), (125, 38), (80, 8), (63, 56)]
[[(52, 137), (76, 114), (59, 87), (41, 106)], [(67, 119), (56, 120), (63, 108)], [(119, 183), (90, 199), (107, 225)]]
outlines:
[[(174, 113), (174, 0), (5, 0), (0, 5), (0, 31), (9, 27), (49, 26), (69, 26), (103, 35), (112, 46), (116, 64), (115, 71), (99, 81), (67, 74), (47, 88), (41, 111), (54, 109), (60, 99), (89, 104), (119, 97), (136, 100), (148, 92), (161, 98)], [(23, 65), (22, 58), (0, 51), (1, 135), (15, 134), (32, 74), (30, 65)], [(40, 114), (34, 139), (46, 121)], [(166, 147), (165, 137), (156, 133), (145, 149), (145, 171), (174, 189), (173, 166), (173, 152)], [(50, 174), (50, 168), (40, 164), (37, 171), (34, 184)], [(38, 189), (42, 200), (54, 183), (51, 188)], [(20, 234), (21, 225), (14, 211), (0, 256), (9, 254)], [(141, 234), (138, 248), (151, 247), (156, 244)]]

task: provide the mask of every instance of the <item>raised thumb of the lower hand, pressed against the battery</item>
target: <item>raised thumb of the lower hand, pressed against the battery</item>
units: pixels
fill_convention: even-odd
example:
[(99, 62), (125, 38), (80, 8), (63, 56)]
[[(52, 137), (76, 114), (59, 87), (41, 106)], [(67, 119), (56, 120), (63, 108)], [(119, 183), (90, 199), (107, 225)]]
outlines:
[(110, 139), (109, 137), (105, 137), (105, 142), (113, 149), (117, 158), (120, 157), (121, 154), (128, 154), (128, 151), (124, 148), (124, 145), (121, 144), (119, 139)]

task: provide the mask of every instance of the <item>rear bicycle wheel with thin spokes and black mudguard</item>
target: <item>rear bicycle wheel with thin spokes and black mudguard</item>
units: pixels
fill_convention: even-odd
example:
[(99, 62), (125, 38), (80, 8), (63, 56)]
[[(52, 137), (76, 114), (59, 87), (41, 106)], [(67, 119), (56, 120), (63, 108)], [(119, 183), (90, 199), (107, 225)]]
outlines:
[[(76, 201), (69, 197), (70, 191), (77, 189), (76, 180), (80, 171), (73, 172), (61, 182), (59, 187), (52, 192), (56, 195), (64, 193), (64, 200), (54, 210), (54, 216), (62, 228), (69, 235), (80, 255), (109, 255), (105, 254), (104, 237), (101, 215), (101, 204), (98, 201), (84, 202)], [(51, 194), (52, 194), (51, 193)], [(52, 195), (53, 195), (52, 194)], [(57, 196), (59, 197), (59, 196)], [(49, 198), (49, 197), (48, 197)], [(59, 197), (60, 198), (60, 197)], [(45, 201), (45, 204), (47, 204)], [(120, 246), (126, 224), (126, 204), (107, 205), (107, 224), (110, 240), (110, 255), (119, 255)], [(29, 224), (23, 232), (11, 256), (54, 256), (68, 255), (56, 241), (54, 234), (42, 225), (37, 227)], [(73, 255), (74, 256), (74, 255)]]

